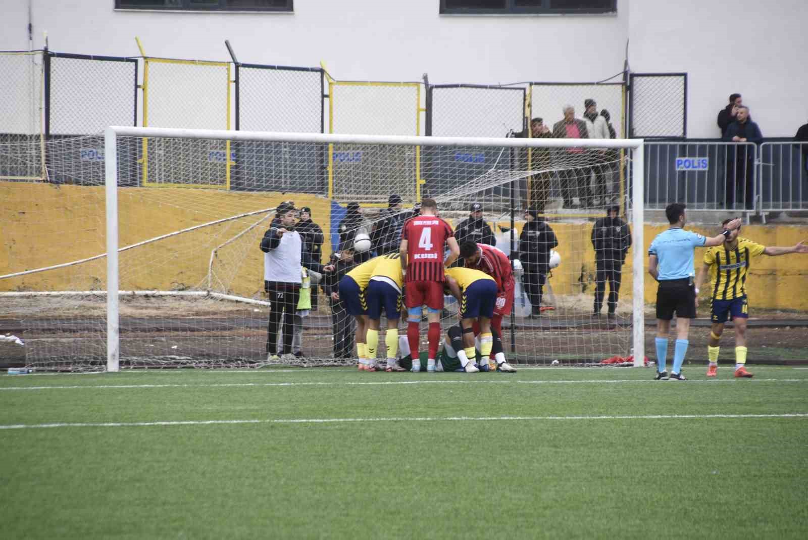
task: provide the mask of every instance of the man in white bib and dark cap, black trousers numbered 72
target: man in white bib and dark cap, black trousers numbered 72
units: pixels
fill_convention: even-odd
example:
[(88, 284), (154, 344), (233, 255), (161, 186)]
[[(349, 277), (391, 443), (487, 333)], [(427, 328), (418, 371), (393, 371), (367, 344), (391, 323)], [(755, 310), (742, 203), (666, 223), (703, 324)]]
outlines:
[(281, 354), (292, 354), (295, 311), (299, 301), (303, 241), (294, 230), (295, 205), (292, 201), (280, 203), (275, 219), (261, 238), (263, 251), (263, 288), (270, 302), (267, 324), (267, 360), (278, 360), (278, 331), (283, 316), (284, 348)]

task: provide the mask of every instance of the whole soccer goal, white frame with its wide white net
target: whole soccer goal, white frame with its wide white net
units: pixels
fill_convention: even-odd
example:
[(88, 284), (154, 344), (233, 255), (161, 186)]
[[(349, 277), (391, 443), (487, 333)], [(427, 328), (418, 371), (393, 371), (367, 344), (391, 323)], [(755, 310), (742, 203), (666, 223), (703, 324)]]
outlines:
[[(460, 239), (494, 244), (514, 259), (514, 306), (501, 332), (511, 364), (625, 363), (633, 349), (642, 351), (642, 259), (635, 256), (642, 256), (635, 249), (642, 209), (622, 216), (635, 247), (609, 252), (622, 270), (620, 296), (609, 297), (607, 285), (597, 317), (602, 280), (592, 227), (607, 201), (591, 206), (587, 191), (606, 167), (638, 178), (642, 141), (115, 128), (106, 141), (96, 135), (46, 146), (50, 182), (0, 182), (11, 254), (0, 260), (0, 297), (14, 321), (4, 335), (20, 334), (19, 343), (0, 343), (0, 356), (24, 358), (28, 367), (354, 365), (355, 322), (330, 293), (353, 265), (397, 251), (403, 218), (427, 196), (458, 233), (469, 231), (464, 221), (481, 205), (490, 236)], [(335, 177), (350, 179), (351, 197), (327, 197)], [(385, 179), (397, 187), (411, 181), (412, 189)], [(574, 208), (532, 212), (536, 183)], [(633, 188), (636, 197), (642, 182)], [(308, 235), (311, 226), (292, 225), (305, 233), (313, 279), (310, 303), (298, 301), (287, 321), (293, 339), (286, 341), (286, 319), (277, 332), (268, 329), (275, 306), (260, 249), (284, 202), (305, 209), (322, 230), (318, 238)], [(553, 246), (531, 243), (535, 224), (526, 223), (534, 215)], [(351, 254), (357, 234), (368, 234), (371, 248)], [(322, 243), (320, 251), (309, 252), (312, 243)], [(545, 247), (546, 262), (533, 252)], [(454, 324), (457, 302), (447, 296), (444, 333)], [(383, 320), (382, 335), (386, 327)], [(405, 335), (406, 317), (399, 328)]]

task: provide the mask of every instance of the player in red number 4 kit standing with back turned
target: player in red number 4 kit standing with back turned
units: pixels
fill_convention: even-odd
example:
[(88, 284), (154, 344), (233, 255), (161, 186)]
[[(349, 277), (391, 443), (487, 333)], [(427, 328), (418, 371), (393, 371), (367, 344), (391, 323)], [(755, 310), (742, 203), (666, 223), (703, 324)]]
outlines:
[[(444, 244), (451, 253), (444, 261)], [(404, 267), (404, 288), (407, 307), (406, 336), (412, 354), (412, 371), (421, 370), (419, 360), (419, 323), (421, 308), (427, 306), (429, 319), (429, 356), (427, 371), (436, 370), (435, 358), (440, 345), (440, 313), (444, 309), (444, 267), (460, 255), (452, 226), (438, 217), (438, 204), (434, 199), (421, 200), (421, 213), (410, 217), (402, 229), (399, 247)]]

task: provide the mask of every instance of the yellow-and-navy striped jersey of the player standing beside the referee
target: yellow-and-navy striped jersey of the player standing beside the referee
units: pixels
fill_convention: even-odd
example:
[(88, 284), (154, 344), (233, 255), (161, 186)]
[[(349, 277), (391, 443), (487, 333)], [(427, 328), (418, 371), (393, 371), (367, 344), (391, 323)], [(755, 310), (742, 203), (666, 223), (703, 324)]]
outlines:
[(704, 263), (709, 266), (710, 286), (714, 300), (732, 300), (747, 293), (747, 272), (752, 257), (762, 255), (766, 247), (747, 238), (738, 238), (738, 245), (709, 247)]

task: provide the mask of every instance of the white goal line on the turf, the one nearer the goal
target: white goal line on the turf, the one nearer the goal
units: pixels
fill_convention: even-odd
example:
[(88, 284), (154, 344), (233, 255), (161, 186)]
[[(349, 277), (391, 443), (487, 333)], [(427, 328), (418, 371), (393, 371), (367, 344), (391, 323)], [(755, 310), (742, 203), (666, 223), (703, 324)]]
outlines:
[[(804, 379), (751, 379), (740, 384), (752, 382), (806, 382)], [(229, 388), (248, 388), (259, 386), (393, 386), (393, 385), (416, 385), (416, 384), (631, 384), (631, 383), (653, 383), (663, 385), (664, 382), (652, 379), (616, 379), (613, 381), (602, 379), (584, 379), (580, 381), (379, 381), (379, 382), (218, 382), (211, 384), (139, 384), (139, 385), (74, 385), (74, 386), (0, 386), (3, 390), (127, 390), (133, 388), (213, 388), (217, 386)], [(692, 381), (688, 383), (706, 382), (718, 384), (719, 382), (737, 382), (734, 379), (718, 379), (715, 381)], [(677, 386), (677, 385), (671, 385)]]

